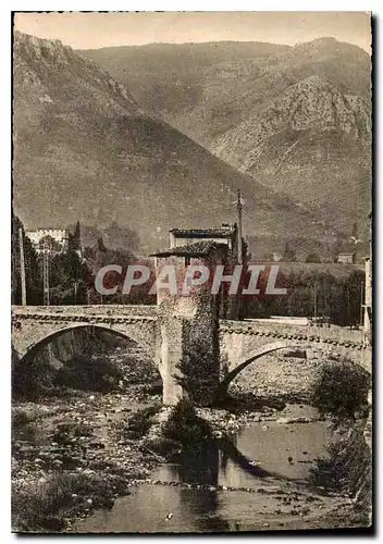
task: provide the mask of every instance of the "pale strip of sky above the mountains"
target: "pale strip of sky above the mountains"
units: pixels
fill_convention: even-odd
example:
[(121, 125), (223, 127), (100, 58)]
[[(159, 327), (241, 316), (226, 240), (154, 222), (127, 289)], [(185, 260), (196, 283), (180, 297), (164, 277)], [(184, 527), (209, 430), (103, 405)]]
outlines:
[(331, 36), (370, 52), (371, 44), (367, 12), (16, 13), (14, 25), (74, 49), (222, 40), (294, 46)]

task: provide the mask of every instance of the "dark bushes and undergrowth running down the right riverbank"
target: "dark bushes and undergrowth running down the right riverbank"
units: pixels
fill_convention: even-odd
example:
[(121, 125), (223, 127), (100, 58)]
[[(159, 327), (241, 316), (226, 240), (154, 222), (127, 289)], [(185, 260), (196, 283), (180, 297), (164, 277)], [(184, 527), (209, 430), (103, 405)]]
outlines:
[(371, 375), (347, 359), (323, 364), (314, 384), (312, 404), (330, 415), (338, 440), (328, 446), (311, 471), (313, 485), (354, 497), (358, 523), (370, 526), (372, 457), (363, 431), (369, 410)]

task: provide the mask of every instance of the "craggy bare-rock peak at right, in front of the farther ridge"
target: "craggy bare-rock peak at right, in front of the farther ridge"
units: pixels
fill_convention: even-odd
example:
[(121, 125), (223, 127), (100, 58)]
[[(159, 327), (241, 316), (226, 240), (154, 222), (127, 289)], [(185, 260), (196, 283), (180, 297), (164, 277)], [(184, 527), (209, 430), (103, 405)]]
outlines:
[[(227, 131), (214, 152), (343, 232), (368, 227), (371, 125), (366, 101), (310, 76)], [(360, 232), (360, 231), (359, 231)]]

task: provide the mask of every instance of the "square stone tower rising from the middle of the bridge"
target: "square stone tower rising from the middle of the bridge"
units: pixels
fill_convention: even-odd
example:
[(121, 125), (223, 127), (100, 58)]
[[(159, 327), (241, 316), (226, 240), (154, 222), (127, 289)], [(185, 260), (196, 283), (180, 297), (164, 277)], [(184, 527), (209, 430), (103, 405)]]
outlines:
[[(163, 403), (175, 405), (187, 395), (180, 384), (185, 366), (201, 368), (201, 405), (212, 403), (220, 382), (219, 353), (219, 307), (220, 294), (211, 295), (211, 284), (207, 282), (198, 289), (193, 287), (184, 292), (185, 273), (188, 265), (205, 265), (209, 270), (218, 263), (224, 263), (227, 246), (217, 242), (197, 242), (186, 246), (173, 247), (153, 254), (157, 282), (166, 283), (157, 289), (159, 366), (163, 382)], [(173, 272), (174, 271), (174, 272)], [(174, 277), (170, 277), (174, 274)], [(175, 282), (173, 281), (175, 280)], [(172, 292), (172, 284), (176, 293)], [(199, 366), (198, 357), (203, 358)], [(195, 378), (195, 376), (194, 376)], [(208, 378), (208, 379), (206, 379)]]

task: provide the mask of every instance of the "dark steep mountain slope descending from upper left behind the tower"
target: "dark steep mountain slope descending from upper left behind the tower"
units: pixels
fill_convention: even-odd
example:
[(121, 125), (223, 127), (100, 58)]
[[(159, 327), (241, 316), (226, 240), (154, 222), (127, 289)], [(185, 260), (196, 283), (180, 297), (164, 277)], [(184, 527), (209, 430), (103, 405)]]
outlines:
[(321, 225), (138, 106), (125, 83), (60, 41), (14, 38), (13, 206), (27, 228), (81, 223), (138, 233), (141, 254), (171, 227), (235, 221), (282, 239)]

